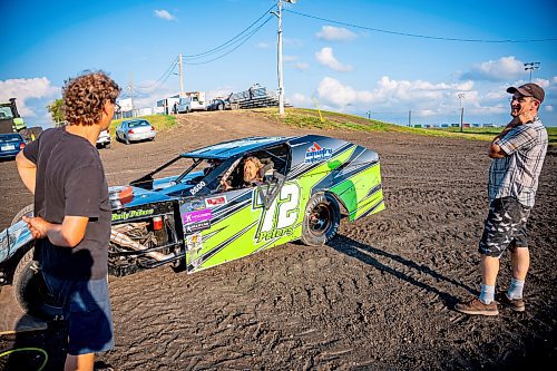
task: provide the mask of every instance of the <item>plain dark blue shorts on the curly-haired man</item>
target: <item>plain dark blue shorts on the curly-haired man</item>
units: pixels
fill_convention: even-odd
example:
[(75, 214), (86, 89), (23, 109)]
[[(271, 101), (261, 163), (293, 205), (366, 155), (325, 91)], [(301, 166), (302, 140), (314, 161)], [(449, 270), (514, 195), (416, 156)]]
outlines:
[(113, 349), (113, 318), (107, 279), (75, 281), (42, 273), (56, 304), (68, 323), (68, 353), (71, 355)]

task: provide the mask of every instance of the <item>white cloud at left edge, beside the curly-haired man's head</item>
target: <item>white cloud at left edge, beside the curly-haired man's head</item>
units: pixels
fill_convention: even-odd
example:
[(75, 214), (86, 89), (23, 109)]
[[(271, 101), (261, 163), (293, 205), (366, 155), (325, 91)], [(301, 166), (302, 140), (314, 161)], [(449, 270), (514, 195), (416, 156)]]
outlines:
[(46, 105), (49, 102), (45, 100), (36, 105), (37, 107), (30, 107), (29, 99), (47, 99), (57, 96), (61, 97), (60, 88), (52, 86), (46, 77), (0, 80), (0, 101), (17, 98), (18, 110), (23, 118), (43, 116)]

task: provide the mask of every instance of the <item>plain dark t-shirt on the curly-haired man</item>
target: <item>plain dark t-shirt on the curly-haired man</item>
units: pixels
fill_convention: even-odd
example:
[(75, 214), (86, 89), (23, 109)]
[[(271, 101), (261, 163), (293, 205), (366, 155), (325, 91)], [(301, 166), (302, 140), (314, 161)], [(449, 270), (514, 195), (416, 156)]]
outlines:
[(110, 203), (97, 148), (66, 128), (45, 130), (23, 155), (37, 165), (35, 215), (61, 224), (63, 217), (87, 216), (84, 240), (75, 247), (37, 241), (42, 270), (61, 279), (101, 279), (107, 274)]

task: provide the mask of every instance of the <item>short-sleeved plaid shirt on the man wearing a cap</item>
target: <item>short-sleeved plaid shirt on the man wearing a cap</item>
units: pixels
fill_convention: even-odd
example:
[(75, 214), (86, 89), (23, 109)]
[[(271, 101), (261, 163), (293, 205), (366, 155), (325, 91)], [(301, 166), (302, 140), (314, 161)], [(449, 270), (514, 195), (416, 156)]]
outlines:
[(496, 144), (507, 156), (491, 162), (489, 201), (510, 196), (525, 206), (534, 206), (547, 150), (544, 124), (536, 117), (532, 123), (515, 127)]

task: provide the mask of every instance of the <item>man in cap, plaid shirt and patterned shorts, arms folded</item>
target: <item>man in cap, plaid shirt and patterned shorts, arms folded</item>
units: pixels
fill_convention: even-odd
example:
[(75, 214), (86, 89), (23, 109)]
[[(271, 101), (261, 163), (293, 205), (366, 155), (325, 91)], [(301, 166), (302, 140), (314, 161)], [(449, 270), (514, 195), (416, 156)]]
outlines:
[(479, 243), (481, 293), (455, 307), (466, 314), (497, 315), (495, 286), (499, 257), (508, 248), (512, 280), (500, 301), (516, 312), (525, 311), (522, 289), (530, 264), (526, 222), (534, 206), (538, 177), (547, 150), (547, 130), (538, 117), (545, 98), (536, 84), (510, 87), (512, 120), (489, 146), (489, 214)]

